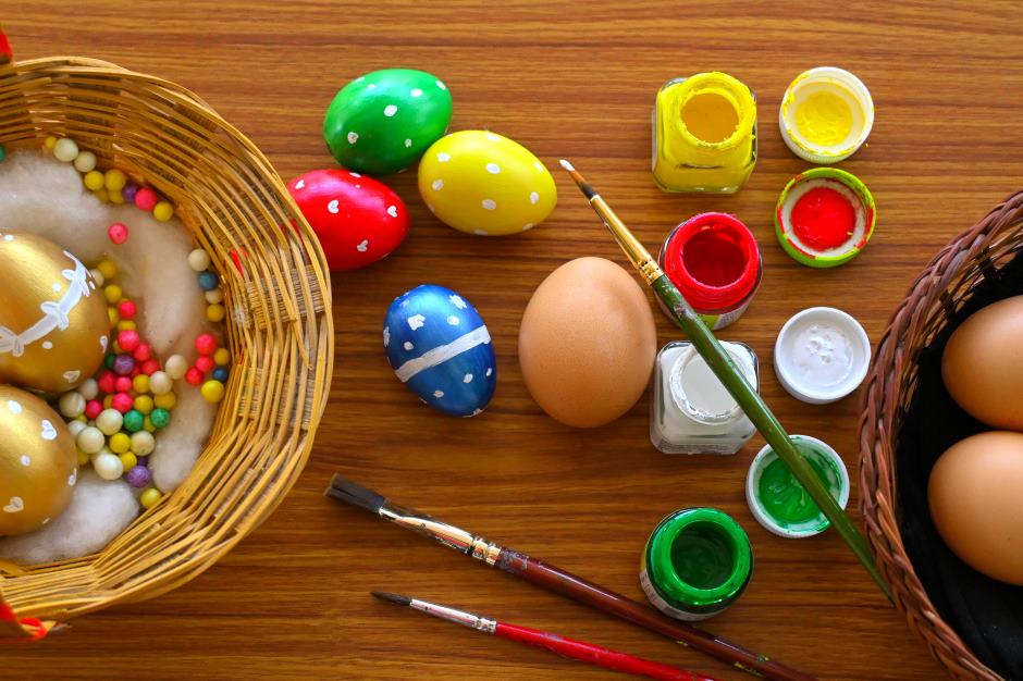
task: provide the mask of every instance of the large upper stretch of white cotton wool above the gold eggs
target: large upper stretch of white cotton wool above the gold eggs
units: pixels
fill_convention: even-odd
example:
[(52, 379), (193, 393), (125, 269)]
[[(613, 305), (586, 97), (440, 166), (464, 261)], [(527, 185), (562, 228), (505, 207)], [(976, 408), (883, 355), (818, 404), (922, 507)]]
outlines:
[[(128, 227), (121, 246), (107, 236), (115, 222)], [(160, 358), (194, 355), (195, 337), (210, 331), (188, 267), (192, 239), (181, 223), (159, 222), (134, 206), (100, 203), (70, 163), (34, 151), (0, 162), (0, 230), (45, 236), (87, 265), (113, 260), (116, 284), (138, 304), (139, 332)]]

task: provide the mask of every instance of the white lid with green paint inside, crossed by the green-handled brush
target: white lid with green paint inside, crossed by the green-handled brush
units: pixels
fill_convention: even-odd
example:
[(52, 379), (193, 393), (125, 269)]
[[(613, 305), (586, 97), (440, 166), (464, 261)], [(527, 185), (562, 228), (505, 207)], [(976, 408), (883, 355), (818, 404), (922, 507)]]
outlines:
[[(849, 471), (838, 453), (810, 435), (790, 437), (828, 493), (846, 508), (849, 504)], [(745, 500), (756, 521), (778, 536), (805, 538), (821, 534), (830, 525), (771, 445), (765, 445), (750, 465), (745, 476)]]

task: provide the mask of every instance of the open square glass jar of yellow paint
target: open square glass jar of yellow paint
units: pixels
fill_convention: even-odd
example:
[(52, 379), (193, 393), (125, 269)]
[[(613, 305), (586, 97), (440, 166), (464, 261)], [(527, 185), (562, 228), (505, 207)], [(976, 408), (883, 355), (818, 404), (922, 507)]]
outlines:
[(756, 97), (726, 73), (668, 81), (653, 116), (654, 182), (665, 191), (731, 194), (756, 164)]

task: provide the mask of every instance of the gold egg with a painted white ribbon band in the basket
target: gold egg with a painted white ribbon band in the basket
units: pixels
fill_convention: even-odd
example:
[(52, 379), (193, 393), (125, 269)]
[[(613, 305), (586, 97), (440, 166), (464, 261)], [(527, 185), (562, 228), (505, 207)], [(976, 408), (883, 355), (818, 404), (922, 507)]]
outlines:
[(69, 391), (99, 369), (107, 301), (88, 269), (41, 236), (0, 236), (0, 382)]

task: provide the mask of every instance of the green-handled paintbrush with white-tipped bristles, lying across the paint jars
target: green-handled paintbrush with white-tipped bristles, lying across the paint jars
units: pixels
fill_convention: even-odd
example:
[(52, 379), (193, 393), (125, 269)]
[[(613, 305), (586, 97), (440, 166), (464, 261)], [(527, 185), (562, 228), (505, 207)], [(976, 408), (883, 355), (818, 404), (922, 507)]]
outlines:
[(880, 571), (874, 562), (874, 557), (871, 555), (866, 540), (863, 538), (863, 535), (852, 523), (852, 519), (850, 519), (842, 507), (838, 505), (838, 502), (828, 494), (827, 488), (816, 474), (814, 474), (813, 469), (810, 468), (810, 465), (799, 453), (799, 449), (792, 444), (788, 433), (781, 428), (781, 423), (778, 422), (778, 419), (775, 418), (775, 414), (772, 413), (767, 405), (764, 404), (764, 400), (756, 391), (745, 381), (742, 372), (739, 371), (739, 368), (736, 367), (720, 343), (718, 343), (714, 333), (707, 327), (700, 315), (697, 314), (692, 306), (686, 301), (686, 298), (678, 292), (678, 288), (675, 287), (671, 280), (664, 274), (661, 270), (661, 265), (653, 259), (650, 251), (643, 247), (625, 223), (611, 210), (611, 207), (601, 198), (601, 195), (590, 186), (590, 183), (583, 178), (571, 163), (564, 159), (562, 159), (560, 163), (562, 168), (568, 171), (571, 178), (579, 185), (579, 189), (582, 190), (582, 194), (589, 200), (590, 207), (593, 208), (604, 222), (604, 226), (611, 231), (615, 240), (618, 242), (618, 246), (621, 247), (621, 250), (629, 258), (632, 267), (639, 270), (640, 274), (643, 276), (643, 281), (654, 289), (654, 295), (657, 296), (661, 302), (664, 304), (664, 307), (670, 312), (675, 323), (689, 336), (690, 342), (692, 342), (704, 361), (706, 361), (707, 367), (711, 368), (714, 375), (718, 377), (739, 406), (742, 407), (742, 410), (750, 418), (750, 421), (753, 422), (753, 425), (756, 426), (756, 430), (760, 431), (761, 435), (764, 436), (764, 439), (767, 441), (767, 444), (771, 445), (771, 448), (774, 449), (778, 454), (778, 457), (789, 467), (796, 479), (803, 485), (803, 488), (806, 490), (810, 497), (821, 508), (860, 562), (863, 564), (866, 571), (874, 578), (877, 585), (880, 586), (882, 592), (888, 596), (888, 598), (891, 598), (888, 585), (885, 584), (885, 581), (880, 577)]

